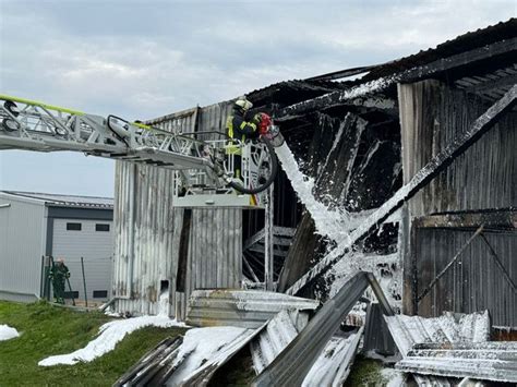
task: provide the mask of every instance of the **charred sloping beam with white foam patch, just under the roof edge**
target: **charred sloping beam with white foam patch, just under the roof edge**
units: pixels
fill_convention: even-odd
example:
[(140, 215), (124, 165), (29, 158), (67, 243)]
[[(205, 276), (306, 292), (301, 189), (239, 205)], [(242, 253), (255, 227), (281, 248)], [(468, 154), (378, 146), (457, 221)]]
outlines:
[(306, 113), (308, 111), (342, 105), (346, 100), (362, 97), (370, 93), (381, 92), (396, 83), (417, 82), (450, 69), (472, 64), (495, 56), (516, 51), (517, 38), (497, 41), (448, 58), (442, 58), (429, 64), (406, 70), (401, 73), (366, 82), (348, 90), (325, 94), (313, 99), (288, 106), (280, 110), (275, 120), (278, 122), (290, 120), (299, 114)]

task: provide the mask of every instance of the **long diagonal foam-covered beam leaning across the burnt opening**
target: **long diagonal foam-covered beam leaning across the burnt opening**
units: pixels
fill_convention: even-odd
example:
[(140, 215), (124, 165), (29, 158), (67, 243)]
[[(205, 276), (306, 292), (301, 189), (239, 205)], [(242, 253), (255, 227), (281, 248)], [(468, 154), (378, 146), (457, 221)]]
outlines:
[(512, 87), (498, 101), (481, 114), (466, 132), (457, 135), (455, 140), (440, 154), (433, 157), (425, 167), (418, 171), (412, 179), (395, 195), (385, 202), (375, 213), (369, 216), (346, 239), (337, 241), (337, 247), (330, 251), (311, 270), (303, 275), (287, 291), (287, 294), (297, 294), (308, 283), (324, 274), (332, 265), (344, 257), (351, 246), (366, 235), (375, 226), (382, 223), (389, 215), (397, 210), (405, 202), (414, 196), (423, 186), (433, 180), (441, 171), (447, 168), (458, 156), (465, 153), (484, 133), (486, 133), (498, 119), (517, 102), (517, 85)]

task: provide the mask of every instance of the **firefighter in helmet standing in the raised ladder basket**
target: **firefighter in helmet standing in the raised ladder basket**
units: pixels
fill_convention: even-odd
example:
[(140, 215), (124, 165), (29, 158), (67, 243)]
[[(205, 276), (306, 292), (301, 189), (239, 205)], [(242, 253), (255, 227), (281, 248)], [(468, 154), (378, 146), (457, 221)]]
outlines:
[(255, 114), (252, 120), (247, 121), (247, 114), (252, 107), (253, 104), (245, 97), (239, 97), (233, 104), (232, 112), (226, 122), (226, 134), (229, 138), (235, 140), (227, 146), (226, 153), (227, 155), (233, 155), (233, 176), (238, 179), (242, 179), (242, 149), (237, 141), (244, 143), (247, 140), (254, 140), (260, 135), (261, 114)]

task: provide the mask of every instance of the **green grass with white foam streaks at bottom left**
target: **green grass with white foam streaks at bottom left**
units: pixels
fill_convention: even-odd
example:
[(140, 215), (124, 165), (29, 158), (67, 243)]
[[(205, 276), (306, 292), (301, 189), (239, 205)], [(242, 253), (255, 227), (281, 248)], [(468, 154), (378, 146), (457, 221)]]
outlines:
[(0, 301), (0, 324), (16, 328), (19, 338), (0, 341), (0, 386), (111, 386), (145, 352), (179, 328), (148, 327), (129, 335), (115, 351), (76, 365), (40, 367), (38, 361), (86, 346), (110, 318), (45, 302), (19, 304)]

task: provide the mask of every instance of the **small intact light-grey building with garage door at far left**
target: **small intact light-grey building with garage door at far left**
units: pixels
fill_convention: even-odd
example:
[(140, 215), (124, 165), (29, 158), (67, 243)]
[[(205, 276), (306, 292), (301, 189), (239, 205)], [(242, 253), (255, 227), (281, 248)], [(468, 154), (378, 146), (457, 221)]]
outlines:
[(88, 301), (109, 299), (113, 199), (0, 191), (0, 299), (29, 302), (48, 294), (51, 299), (44, 256), (64, 258), (73, 295), (81, 300), (83, 257)]

